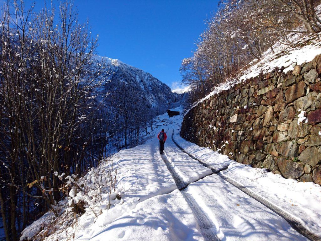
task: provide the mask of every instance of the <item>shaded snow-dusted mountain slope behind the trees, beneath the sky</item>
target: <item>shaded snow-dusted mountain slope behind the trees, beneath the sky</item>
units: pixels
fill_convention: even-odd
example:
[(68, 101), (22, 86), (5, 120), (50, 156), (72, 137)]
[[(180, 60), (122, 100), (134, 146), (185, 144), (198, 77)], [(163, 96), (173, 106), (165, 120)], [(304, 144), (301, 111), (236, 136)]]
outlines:
[(142, 96), (140, 105), (145, 107), (163, 107), (163, 111), (175, 105), (180, 100), (180, 95), (173, 93), (169, 86), (162, 83), (151, 74), (141, 69), (127, 65), (118, 59), (103, 57), (108, 66), (109, 77), (104, 91), (112, 93), (121, 83), (126, 83), (135, 89), (137, 95)]

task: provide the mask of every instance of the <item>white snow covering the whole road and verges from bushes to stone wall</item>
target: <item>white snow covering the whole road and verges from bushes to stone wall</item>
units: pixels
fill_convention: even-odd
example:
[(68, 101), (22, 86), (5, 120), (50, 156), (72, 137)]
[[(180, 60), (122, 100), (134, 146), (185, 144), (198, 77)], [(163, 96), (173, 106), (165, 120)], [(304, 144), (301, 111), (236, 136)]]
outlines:
[[(109, 189), (102, 188), (100, 205), (96, 205), (100, 212), (92, 212), (88, 207), (73, 226), (62, 225), (45, 240), (203, 240), (204, 232), (212, 232), (217, 240), (307, 240), (285, 219), (182, 152), (171, 140), (173, 130), (175, 141), (188, 153), (213, 169), (228, 165), (222, 175), (269, 200), (321, 236), (319, 185), (284, 179), (187, 142), (178, 135), (181, 121), (181, 115), (160, 116), (154, 125), (156, 129), (149, 130), (154, 138), (102, 163), (97, 170), (110, 170), (111, 165), (117, 170), (110, 209)], [(159, 154), (156, 136), (162, 128), (168, 134), (163, 158), (169, 162), (171, 172), (189, 184), (181, 192)], [(38, 232), (48, 217), (52, 215), (48, 213), (27, 227), (22, 239), (32, 239), (32, 231)]]

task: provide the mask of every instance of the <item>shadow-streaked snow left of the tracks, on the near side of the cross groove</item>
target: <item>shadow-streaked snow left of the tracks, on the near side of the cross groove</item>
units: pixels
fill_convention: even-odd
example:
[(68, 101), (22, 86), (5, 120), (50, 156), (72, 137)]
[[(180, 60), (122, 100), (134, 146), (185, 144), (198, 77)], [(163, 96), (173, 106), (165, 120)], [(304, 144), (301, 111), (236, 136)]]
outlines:
[(203, 240), (182, 194), (155, 196), (107, 225), (92, 241), (101, 240)]

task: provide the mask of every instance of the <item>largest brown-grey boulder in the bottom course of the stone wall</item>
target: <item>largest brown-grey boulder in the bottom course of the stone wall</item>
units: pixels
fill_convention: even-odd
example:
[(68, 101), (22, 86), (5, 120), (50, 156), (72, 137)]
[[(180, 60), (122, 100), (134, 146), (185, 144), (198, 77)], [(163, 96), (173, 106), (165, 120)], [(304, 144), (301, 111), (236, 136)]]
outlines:
[(302, 163), (293, 162), (292, 160), (280, 157), (277, 160), (279, 170), (285, 178), (298, 179), (304, 174), (304, 165)]

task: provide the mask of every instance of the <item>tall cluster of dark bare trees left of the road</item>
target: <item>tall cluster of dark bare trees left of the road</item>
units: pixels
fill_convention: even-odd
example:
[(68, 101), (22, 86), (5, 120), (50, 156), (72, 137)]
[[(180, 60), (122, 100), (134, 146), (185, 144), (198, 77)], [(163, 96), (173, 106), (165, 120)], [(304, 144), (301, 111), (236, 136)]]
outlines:
[[(0, 204), (7, 240), (17, 240), (30, 218), (37, 217), (31, 210), (46, 211), (62, 198), (64, 175), (82, 174), (85, 163), (102, 153), (98, 145), (106, 142), (90, 142), (106, 130), (91, 128), (101, 114), (95, 89), (106, 78), (96, 46), (97, 38), (91, 38), (87, 23), (78, 23), (68, 2), (57, 15), (53, 8), (36, 15), (22, 1), (5, 6)], [(90, 131), (83, 131), (86, 126)]]

